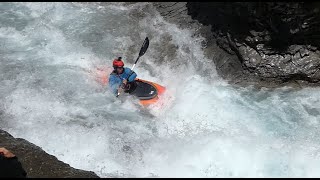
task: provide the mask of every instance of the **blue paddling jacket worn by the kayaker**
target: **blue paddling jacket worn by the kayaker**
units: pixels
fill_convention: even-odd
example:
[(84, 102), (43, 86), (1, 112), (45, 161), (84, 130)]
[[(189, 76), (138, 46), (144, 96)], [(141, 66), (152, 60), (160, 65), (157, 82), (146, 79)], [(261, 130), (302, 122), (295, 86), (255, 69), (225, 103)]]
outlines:
[[(124, 79), (127, 79), (131, 72), (131, 69), (127, 67), (124, 68), (122, 74), (117, 74), (115, 71), (112, 71), (112, 73), (109, 76), (109, 88), (114, 94), (118, 93), (118, 88), (121, 85), (122, 81)], [(137, 74), (133, 71), (131, 76), (128, 78), (128, 82), (133, 82), (136, 77)]]

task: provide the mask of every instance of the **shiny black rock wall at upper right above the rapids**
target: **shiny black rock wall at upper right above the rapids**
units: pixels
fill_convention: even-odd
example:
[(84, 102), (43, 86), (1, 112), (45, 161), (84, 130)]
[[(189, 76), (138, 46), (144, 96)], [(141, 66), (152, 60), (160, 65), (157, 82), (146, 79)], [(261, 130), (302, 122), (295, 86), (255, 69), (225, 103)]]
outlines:
[[(320, 3), (188, 2), (186, 6), (193, 19), (211, 26), (220, 48), (238, 57), (242, 70), (231, 79), (319, 82)], [(222, 76), (239, 72), (234, 60), (215, 61), (218, 72)]]

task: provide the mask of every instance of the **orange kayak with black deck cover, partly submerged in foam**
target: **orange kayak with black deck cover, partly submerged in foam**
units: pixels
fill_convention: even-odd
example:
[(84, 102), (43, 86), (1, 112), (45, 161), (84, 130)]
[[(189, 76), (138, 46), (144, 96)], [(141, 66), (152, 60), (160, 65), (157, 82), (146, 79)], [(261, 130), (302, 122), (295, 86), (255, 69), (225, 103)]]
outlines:
[[(108, 85), (108, 78), (111, 71), (112, 68), (108, 67), (98, 68), (95, 75), (96, 80), (102, 85)], [(129, 94), (136, 96), (141, 105), (149, 106), (156, 103), (159, 100), (159, 96), (165, 91), (166, 88), (164, 86), (151, 81), (136, 78), (134, 82), (134, 88)]]

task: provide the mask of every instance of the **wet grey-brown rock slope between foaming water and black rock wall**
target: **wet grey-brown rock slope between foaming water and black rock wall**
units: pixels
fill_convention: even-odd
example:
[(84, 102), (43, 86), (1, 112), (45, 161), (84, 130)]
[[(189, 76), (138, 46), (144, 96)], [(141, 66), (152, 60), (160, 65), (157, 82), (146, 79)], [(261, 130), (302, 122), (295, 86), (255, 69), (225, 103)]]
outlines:
[(188, 15), (186, 2), (153, 2), (153, 6), (166, 21), (178, 25), (179, 28), (196, 29), (206, 41), (203, 42), (204, 53), (215, 63), (218, 73), (226, 79), (239, 79), (243, 75), (242, 66), (236, 54), (228, 53), (217, 45), (217, 37), (211, 32), (209, 26), (204, 26)]

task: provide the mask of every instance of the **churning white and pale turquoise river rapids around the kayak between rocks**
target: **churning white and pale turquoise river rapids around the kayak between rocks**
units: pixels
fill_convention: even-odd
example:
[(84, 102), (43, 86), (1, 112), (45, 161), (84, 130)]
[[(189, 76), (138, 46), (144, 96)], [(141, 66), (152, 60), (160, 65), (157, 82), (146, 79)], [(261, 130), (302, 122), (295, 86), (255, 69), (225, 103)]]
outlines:
[[(319, 177), (319, 88), (234, 88), (151, 3), (1, 3), (1, 129), (100, 177)], [(143, 110), (94, 80), (122, 56), (168, 88)], [(204, 72), (210, 72), (204, 73)], [(148, 112), (148, 113), (145, 113)]]

